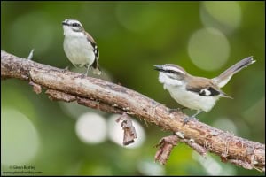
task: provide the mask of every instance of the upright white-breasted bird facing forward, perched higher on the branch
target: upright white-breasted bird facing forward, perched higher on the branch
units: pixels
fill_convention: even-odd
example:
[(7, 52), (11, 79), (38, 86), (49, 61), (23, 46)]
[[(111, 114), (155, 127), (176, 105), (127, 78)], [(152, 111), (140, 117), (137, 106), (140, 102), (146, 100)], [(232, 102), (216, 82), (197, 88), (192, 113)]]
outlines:
[(75, 67), (90, 67), (93, 73), (100, 74), (98, 65), (98, 46), (89, 33), (82, 27), (82, 23), (76, 19), (65, 19), (62, 22), (64, 29), (64, 50), (66, 57)]

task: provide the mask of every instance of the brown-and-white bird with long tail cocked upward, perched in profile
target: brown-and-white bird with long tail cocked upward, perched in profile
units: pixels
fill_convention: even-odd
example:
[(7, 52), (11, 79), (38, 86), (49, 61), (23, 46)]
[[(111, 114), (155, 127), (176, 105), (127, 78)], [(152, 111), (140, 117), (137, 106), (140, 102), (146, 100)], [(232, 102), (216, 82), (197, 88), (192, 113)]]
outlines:
[[(189, 118), (193, 119), (200, 112), (209, 112), (220, 97), (231, 98), (221, 88), (230, 81), (233, 74), (238, 73), (248, 65), (254, 64), (254, 62), (253, 57), (242, 59), (213, 79), (192, 76), (179, 65), (165, 64), (154, 66), (155, 70), (160, 72), (160, 83), (163, 84), (164, 89), (168, 90), (171, 97), (178, 104), (197, 111)], [(189, 119), (185, 119), (185, 121)]]

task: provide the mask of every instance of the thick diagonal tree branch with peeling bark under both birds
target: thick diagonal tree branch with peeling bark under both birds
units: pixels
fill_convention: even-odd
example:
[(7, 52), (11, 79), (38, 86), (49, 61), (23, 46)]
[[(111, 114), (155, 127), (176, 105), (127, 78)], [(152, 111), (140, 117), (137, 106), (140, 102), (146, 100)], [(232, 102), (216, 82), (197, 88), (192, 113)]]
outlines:
[[(176, 135), (182, 140), (180, 142), (194, 144), (191, 145), (194, 150), (204, 148), (220, 156), (223, 162), (265, 171), (265, 144), (231, 135), (200, 121), (184, 124), (183, 119), (187, 117), (184, 113), (170, 113), (166, 106), (134, 90), (108, 81), (82, 77), (79, 73), (39, 64), (26, 58), (18, 58), (1, 50), (1, 79), (7, 78), (30, 82), (36, 93), (45, 88), (46, 94), (52, 100), (77, 101), (104, 112), (126, 112), (163, 129), (177, 132)], [(198, 146), (201, 148), (195, 148)]]

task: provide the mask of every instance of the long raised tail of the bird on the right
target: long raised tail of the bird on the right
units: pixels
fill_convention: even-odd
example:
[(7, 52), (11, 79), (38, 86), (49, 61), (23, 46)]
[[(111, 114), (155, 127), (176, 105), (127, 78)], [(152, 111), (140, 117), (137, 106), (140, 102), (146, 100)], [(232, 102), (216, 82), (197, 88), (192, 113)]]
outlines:
[(232, 65), (230, 68), (225, 70), (218, 77), (215, 77), (213, 79), (213, 81), (215, 81), (216, 85), (219, 88), (223, 88), (223, 86), (226, 85), (228, 81), (230, 81), (231, 76), (233, 74), (238, 73), (241, 69), (243, 69), (244, 67), (247, 67), (248, 65), (253, 64), (254, 62), (255, 62), (255, 60), (253, 60), (252, 56), (245, 58), (245, 59), (242, 59), (241, 61), (239, 61), (235, 65)]

